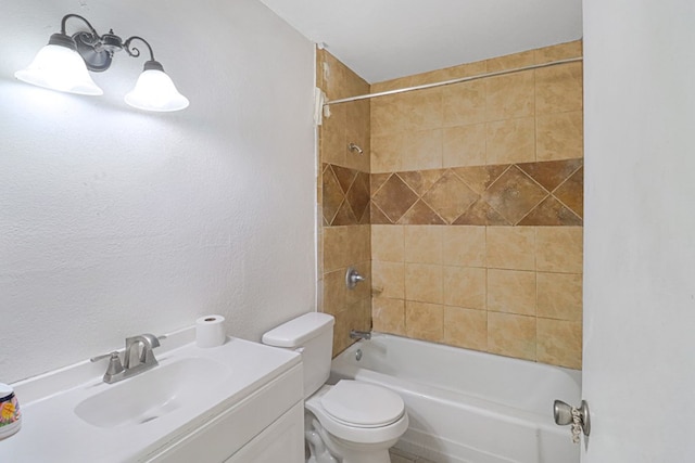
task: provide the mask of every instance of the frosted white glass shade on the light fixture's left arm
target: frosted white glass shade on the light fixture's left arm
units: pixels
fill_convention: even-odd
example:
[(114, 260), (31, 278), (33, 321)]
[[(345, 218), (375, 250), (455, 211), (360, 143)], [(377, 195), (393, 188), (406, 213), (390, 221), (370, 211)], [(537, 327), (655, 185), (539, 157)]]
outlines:
[(47, 44), (36, 54), (26, 69), (17, 70), (14, 77), (51, 90), (68, 93), (103, 94), (89, 76), (79, 53), (60, 44)]

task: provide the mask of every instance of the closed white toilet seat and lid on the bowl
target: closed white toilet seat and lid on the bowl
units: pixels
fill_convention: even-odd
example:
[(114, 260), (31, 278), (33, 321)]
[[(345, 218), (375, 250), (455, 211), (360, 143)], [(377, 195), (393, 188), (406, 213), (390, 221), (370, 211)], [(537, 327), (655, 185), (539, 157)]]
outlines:
[[(339, 387), (341, 383), (348, 383)], [(378, 390), (374, 390), (370, 388), (362, 388), (359, 386), (353, 387), (350, 386), (351, 383), (356, 383), (357, 385), (367, 385), (374, 387)], [(338, 387), (336, 395), (329, 395), (331, 390)], [(358, 391), (369, 390), (369, 394), (376, 393), (377, 397), (386, 397), (386, 401), (391, 403), (390, 407), (387, 407), (386, 413), (372, 413), (370, 414), (369, 407), (372, 407), (371, 400), (366, 399), (366, 396), (355, 396)], [(386, 391), (386, 394), (381, 394), (381, 391)], [(342, 402), (339, 406), (339, 398), (348, 397), (349, 400), (346, 402)], [(395, 400), (390, 394), (393, 394), (397, 400)], [(328, 403), (328, 408), (331, 409), (332, 413), (329, 413), (326, 410), (326, 407), (323, 403), (323, 398), (329, 395), (329, 398), (326, 400)], [(330, 396), (333, 396), (332, 398)], [(369, 403), (368, 406), (364, 406), (364, 403)], [(399, 404), (400, 403), (400, 404)], [(377, 442), (387, 442), (391, 439), (397, 439), (405, 433), (408, 427), (408, 416), (405, 413), (405, 406), (403, 403), (403, 399), (401, 397), (381, 386), (369, 385), (359, 381), (352, 380), (342, 380), (338, 382), (336, 386), (323, 386), (320, 389), (316, 391), (312, 397), (305, 400), (305, 408), (312, 412), (321, 426), (329, 432), (332, 436), (343, 439), (350, 442), (359, 442), (359, 443), (377, 443)], [(363, 411), (351, 414), (346, 408), (358, 409)], [(381, 410), (380, 406), (374, 406), (375, 409)], [(393, 410), (400, 410), (397, 416)], [(374, 410), (372, 410), (374, 411)], [(344, 413), (344, 414), (343, 414)], [(338, 416), (336, 416), (336, 414)], [(355, 417), (355, 421), (362, 423), (351, 423), (345, 420), (345, 417)], [(381, 423), (381, 424), (376, 424)]]

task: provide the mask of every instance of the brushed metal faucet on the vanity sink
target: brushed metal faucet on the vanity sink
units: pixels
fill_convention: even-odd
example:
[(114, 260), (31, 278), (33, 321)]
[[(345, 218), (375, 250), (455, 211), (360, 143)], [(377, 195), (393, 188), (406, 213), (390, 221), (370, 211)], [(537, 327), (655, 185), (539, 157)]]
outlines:
[(109, 357), (109, 368), (104, 373), (104, 383), (112, 384), (159, 365), (160, 363), (154, 358), (152, 350), (155, 347), (160, 347), (160, 338), (153, 334), (146, 333), (126, 338), (123, 362), (117, 351), (93, 357), (89, 360), (97, 362)]

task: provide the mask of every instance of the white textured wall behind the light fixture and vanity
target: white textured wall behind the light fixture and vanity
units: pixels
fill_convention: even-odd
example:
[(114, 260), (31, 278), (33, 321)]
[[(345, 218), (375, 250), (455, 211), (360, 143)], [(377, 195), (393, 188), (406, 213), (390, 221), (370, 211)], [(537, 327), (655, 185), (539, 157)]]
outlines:
[[(101, 98), (16, 81), (66, 13), (148, 39), (190, 107), (127, 106), (125, 53)], [(0, 30), (0, 382), (314, 308), (312, 43), (255, 0), (3, 0)]]

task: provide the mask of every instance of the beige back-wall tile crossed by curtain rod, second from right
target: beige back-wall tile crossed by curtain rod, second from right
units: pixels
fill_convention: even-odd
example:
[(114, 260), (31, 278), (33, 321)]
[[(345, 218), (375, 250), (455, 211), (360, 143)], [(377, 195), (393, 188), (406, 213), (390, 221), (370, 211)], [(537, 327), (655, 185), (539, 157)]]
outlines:
[(535, 114), (533, 70), (484, 79), (486, 120), (529, 117)]

